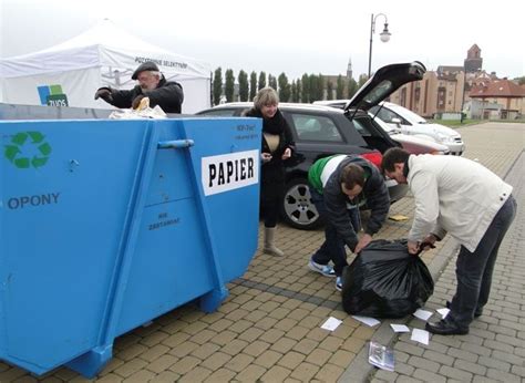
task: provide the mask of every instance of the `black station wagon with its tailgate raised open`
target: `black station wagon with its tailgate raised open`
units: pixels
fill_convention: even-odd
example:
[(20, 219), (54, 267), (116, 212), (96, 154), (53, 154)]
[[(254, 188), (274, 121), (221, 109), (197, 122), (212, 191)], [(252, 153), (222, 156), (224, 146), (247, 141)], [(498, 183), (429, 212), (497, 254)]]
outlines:
[[(383, 66), (358, 91), (344, 111), (312, 104), (279, 104), (296, 142), (295, 156), (286, 164), (286, 189), (281, 205), (282, 218), (290, 226), (311, 229), (321, 224), (308, 189), (307, 174), (313, 162), (332, 154), (358, 154), (379, 166), (381, 153), (401, 146), (366, 110), (404, 83), (421, 80), (424, 72), (423, 64), (419, 62)], [(251, 106), (253, 103), (247, 102), (229, 103), (197, 114), (240, 116)], [(392, 179), (387, 180), (387, 186), (392, 201), (402, 198), (408, 190), (405, 185)]]

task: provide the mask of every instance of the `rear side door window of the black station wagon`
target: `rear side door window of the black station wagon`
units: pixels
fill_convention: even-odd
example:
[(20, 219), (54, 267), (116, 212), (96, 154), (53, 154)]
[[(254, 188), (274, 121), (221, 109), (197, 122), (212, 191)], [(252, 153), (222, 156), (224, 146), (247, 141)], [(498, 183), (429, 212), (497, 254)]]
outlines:
[(326, 116), (290, 113), (299, 141), (342, 143), (343, 139), (333, 121)]

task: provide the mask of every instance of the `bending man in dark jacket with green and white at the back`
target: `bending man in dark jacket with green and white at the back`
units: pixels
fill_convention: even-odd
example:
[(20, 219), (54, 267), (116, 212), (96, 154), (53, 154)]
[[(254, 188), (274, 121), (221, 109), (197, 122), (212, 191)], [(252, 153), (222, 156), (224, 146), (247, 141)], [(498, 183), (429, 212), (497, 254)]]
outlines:
[[(348, 266), (344, 246), (359, 253), (381, 229), (390, 208), (390, 196), (381, 172), (360, 156), (334, 155), (318, 159), (308, 170), (313, 204), (325, 221), (325, 242), (311, 257), (312, 271), (336, 278), (342, 290), (342, 269)], [(359, 207), (371, 209), (364, 235)], [(329, 262), (333, 262), (333, 268)]]

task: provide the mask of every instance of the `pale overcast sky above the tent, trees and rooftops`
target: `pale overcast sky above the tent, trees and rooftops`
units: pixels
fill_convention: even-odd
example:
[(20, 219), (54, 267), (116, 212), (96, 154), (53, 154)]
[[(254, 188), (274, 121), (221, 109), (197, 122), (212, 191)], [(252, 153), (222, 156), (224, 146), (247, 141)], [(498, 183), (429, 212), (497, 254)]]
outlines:
[[(372, 71), (422, 61), (429, 70), (463, 65), (476, 43), (483, 69), (525, 75), (522, 2), (392, 0), (0, 0), (0, 56), (49, 48), (104, 18), (142, 40), (217, 66), (247, 72), (344, 74), (368, 72), (371, 14), (384, 13), (392, 33), (373, 35)], [(518, 8), (519, 7), (519, 8)]]

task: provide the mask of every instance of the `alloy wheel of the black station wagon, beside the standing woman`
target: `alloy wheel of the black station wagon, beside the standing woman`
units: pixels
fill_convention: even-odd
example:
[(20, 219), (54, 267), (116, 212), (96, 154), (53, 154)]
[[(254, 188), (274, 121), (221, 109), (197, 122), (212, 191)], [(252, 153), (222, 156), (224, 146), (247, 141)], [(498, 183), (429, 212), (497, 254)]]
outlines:
[(296, 178), (286, 185), (281, 214), (286, 222), (296, 229), (310, 230), (321, 225), (306, 179)]

